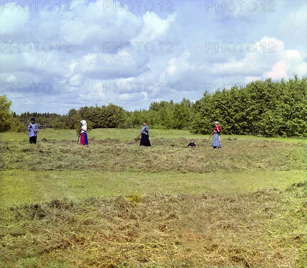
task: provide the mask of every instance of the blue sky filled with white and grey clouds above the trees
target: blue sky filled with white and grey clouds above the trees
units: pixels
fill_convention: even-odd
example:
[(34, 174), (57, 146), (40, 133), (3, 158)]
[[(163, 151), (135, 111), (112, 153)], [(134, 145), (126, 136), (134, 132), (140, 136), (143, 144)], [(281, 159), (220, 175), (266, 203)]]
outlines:
[(196, 101), (307, 72), (306, 1), (1, 1), (11, 110)]

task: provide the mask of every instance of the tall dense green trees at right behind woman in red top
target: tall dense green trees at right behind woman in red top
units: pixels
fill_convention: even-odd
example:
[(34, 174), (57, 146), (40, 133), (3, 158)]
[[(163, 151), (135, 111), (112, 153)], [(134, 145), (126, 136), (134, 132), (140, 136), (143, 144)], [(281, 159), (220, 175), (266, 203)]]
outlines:
[(245, 87), (204, 93), (193, 105), (192, 133), (208, 133), (219, 121), (224, 134), (307, 136), (307, 78), (253, 81)]

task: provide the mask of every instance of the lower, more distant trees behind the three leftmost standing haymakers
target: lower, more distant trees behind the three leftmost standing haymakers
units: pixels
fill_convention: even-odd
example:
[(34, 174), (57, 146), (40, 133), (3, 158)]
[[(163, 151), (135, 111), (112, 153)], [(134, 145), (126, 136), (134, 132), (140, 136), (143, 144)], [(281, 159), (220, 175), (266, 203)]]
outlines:
[(181, 103), (173, 101), (152, 102), (148, 110), (126, 111), (122, 107), (108, 104), (107, 106), (84, 106), (80, 109), (70, 109), (67, 114), (56, 113), (21, 113), (16, 115), (10, 112), (11, 101), (6, 96), (1, 98), (6, 103), (4, 110), (7, 110), (7, 124), (1, 126), (1, 132), (13, 131), (23, 132), (28, 126), (27, 119), (35, 117), (39, 128), (54, 129), (79, 129), (80, 120), (86, 120), (88, 129), (98, 128), (140, 128), (144, 120), (151, 128), (163, 129), (185, 129), (188, 130), (189, 117), (192, 113), (193, 103), (183, 99)]

